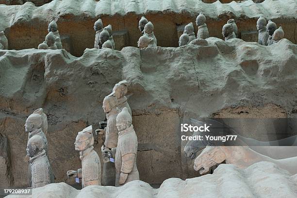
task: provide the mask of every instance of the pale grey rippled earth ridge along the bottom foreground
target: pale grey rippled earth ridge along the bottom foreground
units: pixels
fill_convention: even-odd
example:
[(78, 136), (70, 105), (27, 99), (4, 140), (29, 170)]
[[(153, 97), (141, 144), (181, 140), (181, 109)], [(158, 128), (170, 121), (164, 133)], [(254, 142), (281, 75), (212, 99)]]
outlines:
[[(131, 181), (121, 187), (88, 186), (76, 190), (66, 183), (33, 189), (28, 198), (296, 198), (297, 175), (290, 175), (277, 165), (259, 162), (246, 169), (219, 165), (212, 175), (165, 180), (159, 189), (144, 181)], [(6, 198), (23, 198), (7, 196)]]

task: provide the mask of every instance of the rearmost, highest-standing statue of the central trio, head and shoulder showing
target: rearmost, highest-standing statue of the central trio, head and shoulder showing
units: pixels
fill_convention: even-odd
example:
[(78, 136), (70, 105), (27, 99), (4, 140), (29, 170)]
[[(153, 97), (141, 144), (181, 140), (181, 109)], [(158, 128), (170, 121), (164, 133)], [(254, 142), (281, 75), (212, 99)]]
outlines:
[(126, 80), (120, 81), (115, 84), (113, 92), (111, 95), (115, 96), (117, 99), (118, 112), (121, 112), (124, 107), (128, 109), (129, 114), (132, 116), (131, 108), (127, 102), (127, 97), (125, 96), (128, 91), (128, 82)]

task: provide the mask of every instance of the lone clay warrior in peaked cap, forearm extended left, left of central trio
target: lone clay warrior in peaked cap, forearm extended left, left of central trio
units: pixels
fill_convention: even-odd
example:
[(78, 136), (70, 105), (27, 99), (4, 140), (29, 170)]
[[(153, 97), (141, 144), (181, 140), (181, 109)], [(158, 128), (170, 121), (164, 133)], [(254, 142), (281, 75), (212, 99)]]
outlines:
[(79, 132), (75, 139), (75, 150), (80, 151), (82, 168), (68, 170), (67, 177), (82, 178), (82, 188), (89, 185), (101, 185), (101, 164), (97, 152), (93, 149), (94, 136), (92, 125)]

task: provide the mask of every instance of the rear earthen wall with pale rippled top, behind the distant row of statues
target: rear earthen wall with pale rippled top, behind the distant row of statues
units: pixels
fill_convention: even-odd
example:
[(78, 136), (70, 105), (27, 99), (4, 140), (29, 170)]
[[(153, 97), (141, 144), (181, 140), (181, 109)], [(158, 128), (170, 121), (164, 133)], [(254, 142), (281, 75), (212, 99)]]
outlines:
[[(296, 44), (296, 10), (296, 0), (265, 0), (263, 3), (247, 0), (228, 4), (218, 0), (211, 4), (200, 0), (53, 0), (41, 7), (29, 2), (21, 6), (0, 5), (0, 30), (5, 30), (9, 49), (37, 48), (47, 35), (49, 22), (56, 20), (61, 37), (69, 36), (73, 43), (71, 54), (81, 56), (85, 48), (94, 46), (93, 26), (98, 18), (104, 26), (111, 24), (114, 33), (127, 30), (128, 40), (123, 43), (136, 47), (141, 36), (138, 21), (146, 16), (154, 24), (158, 46), (178, 47), (177, 26), (195, 24), (196, 16), (202, 12), (209, 36), (223, 38), (222, 27), (233, 18), (238, 26), (238, 38), (241, 38), (242, 31), (257, 30), (256, 21), (263, 15), (278, 26), (281, 24), (285, 38)], [(197, 33), (198, 27), (194, 28)], [(249, 36), (246, 39), (252, 40)], [(123, 45), (116, 42), (115, 47), (120, 50)]]

